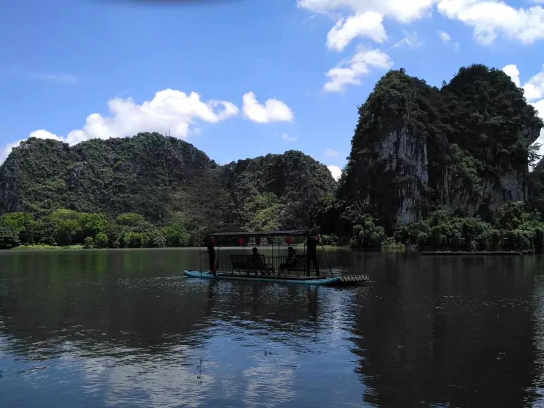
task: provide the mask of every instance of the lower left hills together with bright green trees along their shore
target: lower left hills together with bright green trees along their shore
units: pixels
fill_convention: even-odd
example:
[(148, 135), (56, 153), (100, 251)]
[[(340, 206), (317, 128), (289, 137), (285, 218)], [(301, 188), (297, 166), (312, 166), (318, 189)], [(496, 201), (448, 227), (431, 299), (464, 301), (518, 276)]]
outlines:
[(298, 151), (219, 166), (157, 133), (72, 147), (30, 138), (0, 166), (0, 240), (186, 246), (212, 230), (304, 228), (307, 208), (335, 184), (326, 166)]

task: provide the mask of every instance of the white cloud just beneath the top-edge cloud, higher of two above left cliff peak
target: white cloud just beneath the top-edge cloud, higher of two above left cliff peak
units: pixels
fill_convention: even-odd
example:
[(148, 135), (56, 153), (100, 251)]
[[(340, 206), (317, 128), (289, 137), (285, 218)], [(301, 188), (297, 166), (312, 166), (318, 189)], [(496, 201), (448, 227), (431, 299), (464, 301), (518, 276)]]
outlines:
[(329, 50), (342, 51), (356, 37), (368, 37), (376, 42), (387, 39), (382, 16), (374, 11), (341, 18), (327, 34)]

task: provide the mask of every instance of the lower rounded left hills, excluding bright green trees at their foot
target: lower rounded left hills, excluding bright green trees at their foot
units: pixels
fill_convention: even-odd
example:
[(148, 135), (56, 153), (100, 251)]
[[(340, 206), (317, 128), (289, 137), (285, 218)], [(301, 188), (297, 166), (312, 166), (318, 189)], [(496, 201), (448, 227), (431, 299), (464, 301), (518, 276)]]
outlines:
[(31, 138), (0, 166), (0, 215), (69, 208), (137, 212), (162, 224), (182, 212), (195, 224), (240, 227), (267, 209), (244, 204), (268, 194), (285, 203), (277, 207), (281, 226), (294, 227), (309, 222), (308, 206), (335, 184), (326, 166), (295, 151), (218, 166), (193, 145), (157, 133), (75, 146)]

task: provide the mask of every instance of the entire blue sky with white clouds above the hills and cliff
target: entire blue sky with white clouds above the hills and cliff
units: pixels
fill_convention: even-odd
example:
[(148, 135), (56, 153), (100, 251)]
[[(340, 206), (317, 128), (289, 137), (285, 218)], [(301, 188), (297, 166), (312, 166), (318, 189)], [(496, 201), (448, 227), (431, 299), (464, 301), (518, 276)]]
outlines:
[(30, 136), (157, 131), (220, 164), (301, 150), (338, 177), (388, 70), (503, 69), (544, 118), (543, 51), (544, 0), (0, 0), (0, 163)]

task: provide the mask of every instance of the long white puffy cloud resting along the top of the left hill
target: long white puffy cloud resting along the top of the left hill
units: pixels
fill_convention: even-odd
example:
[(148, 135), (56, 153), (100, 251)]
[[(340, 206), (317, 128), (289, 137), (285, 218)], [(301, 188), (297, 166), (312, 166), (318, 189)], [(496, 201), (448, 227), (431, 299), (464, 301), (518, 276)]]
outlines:
[[(132, 136), (138, 132), (169, 131), (176, 138), (186, 139), (190, 125), (195, 121), (215, 123), (238, 113), (238, 108), (232, 102), (203, 102), (196, 92), (187, 95), (174, 89), (158, 91), (151, 101), (141, 104), (134, 103), (131, 98), (113, 98), (108, 102), (108, 108), (109, 116), (93, 113), (87, 116), (82, 129), (71, 131), (65, 138), (43, 129), (29, 136), (61, 140), (70, 145), (88, 139)], [(11, 143), (4, 148), (0, 154), (0, 163), (11, 152), (13, 145)]]

